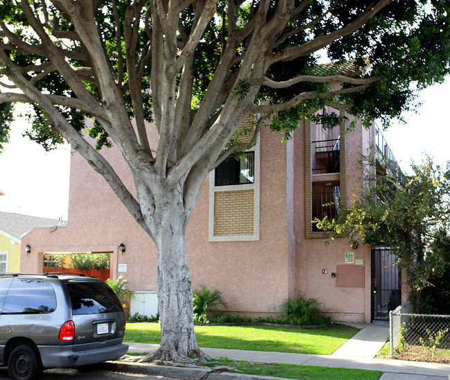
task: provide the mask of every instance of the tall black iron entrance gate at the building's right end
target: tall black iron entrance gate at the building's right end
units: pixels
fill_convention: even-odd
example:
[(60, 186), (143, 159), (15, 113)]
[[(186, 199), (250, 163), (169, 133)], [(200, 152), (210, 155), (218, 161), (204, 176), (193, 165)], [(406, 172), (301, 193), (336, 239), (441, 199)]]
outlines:
[(402, 277), (389, 248), (372, 248), (372, 320), (388, 320), (402, 302)]

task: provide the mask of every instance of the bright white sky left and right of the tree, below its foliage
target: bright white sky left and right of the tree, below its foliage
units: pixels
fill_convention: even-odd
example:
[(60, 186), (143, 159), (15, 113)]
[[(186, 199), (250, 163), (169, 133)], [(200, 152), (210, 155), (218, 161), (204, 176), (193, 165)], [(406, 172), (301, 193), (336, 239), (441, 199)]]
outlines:
[[(393, 123), (383, 135), (404, 173), (411, 173), (411, 159), (424, 153), (445, 167), (450, 160), (450, 78), (420, 93), (417, 114), (405, 114), (406, 124)], [(10, 144), (0, 154), (0, 211), (67, 219), (69, 207), (70, 149), (50, 153), (22, 134), (26, 121), (12, 123)]]

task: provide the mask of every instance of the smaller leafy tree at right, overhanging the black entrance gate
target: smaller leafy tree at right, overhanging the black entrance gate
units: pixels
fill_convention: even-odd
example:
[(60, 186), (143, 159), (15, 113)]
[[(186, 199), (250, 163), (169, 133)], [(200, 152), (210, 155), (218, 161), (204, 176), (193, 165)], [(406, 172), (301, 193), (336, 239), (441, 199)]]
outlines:
[(450, 269), (450, 166), (442, 170), (426, 157), (411, 164), (413, 175), (404, 176), (391, 162), (371, 155), (361, 169), (363, 185), (349, 205), (341, 205), (337, 218), (317, 225), (328, 231), (328, 243), (347, 237), (350, 243), (361, 239), (390, 247), (406, 271), (413, 309), (424, 311), (422, 291)]

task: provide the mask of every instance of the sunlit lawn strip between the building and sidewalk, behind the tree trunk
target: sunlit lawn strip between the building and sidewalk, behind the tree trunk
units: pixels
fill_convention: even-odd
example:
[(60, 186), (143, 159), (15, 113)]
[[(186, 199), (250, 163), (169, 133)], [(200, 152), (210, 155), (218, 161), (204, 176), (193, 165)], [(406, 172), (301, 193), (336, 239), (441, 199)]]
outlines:
[[(199, 347), (330, 355), (359, 330), (346, 325), (317, 329), (272, 326), (196, 326)], [(129, 323), (125, 341), (161, 343), (158, 323)]]

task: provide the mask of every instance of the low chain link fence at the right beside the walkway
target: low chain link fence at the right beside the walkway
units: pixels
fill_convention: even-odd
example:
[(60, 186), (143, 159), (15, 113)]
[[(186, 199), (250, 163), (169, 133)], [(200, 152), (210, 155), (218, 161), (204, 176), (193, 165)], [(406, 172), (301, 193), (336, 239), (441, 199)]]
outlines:
[(411, 304), (389, 313), (390, 356), (450, 363), (450, 316), (413, 314)]

